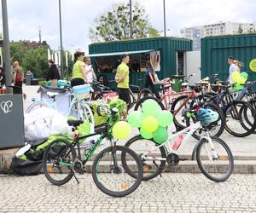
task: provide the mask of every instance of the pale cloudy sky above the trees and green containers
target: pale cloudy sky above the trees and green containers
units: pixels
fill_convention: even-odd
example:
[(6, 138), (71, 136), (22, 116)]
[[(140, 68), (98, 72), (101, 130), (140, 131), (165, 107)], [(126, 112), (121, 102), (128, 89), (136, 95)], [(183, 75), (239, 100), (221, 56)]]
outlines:
[[(132, 0), (135, 2), (135, 0)], [(58, 0), (7, 0), (10, 40), (42, 40), (52, 49), (60, 47)], [(62, 40), (64, 49), (88, 49), (89, 27), (97, 15), (111, 8), (112, 3), (129, 0), (61, 0)], [(163, 1), (137, 0), (149, 14), (149, 21), (163, 31)], [(255, 0), (166, 0), (166, 29), (168, 36), (178, 36), (180, 29), (219, 21), (256, 21)], [(2, 5), (0, 11), (2, 30)]]

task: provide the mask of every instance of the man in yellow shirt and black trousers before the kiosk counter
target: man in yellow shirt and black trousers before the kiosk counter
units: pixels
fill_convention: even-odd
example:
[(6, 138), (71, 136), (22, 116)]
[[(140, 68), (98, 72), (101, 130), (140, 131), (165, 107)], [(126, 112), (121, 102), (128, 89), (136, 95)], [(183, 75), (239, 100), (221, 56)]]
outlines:
[[(115, 75), (115, 81), (118, 83), (118, 93), (119, 99), (126, 102), (126, 104), (130, 104), (130, 90), (129, 90), (129, 64), (130, 57), (129, 55), (121, 56), (121, 64), (117, 68), (117, 72)], [(127, 117), (127, 112), (123, 114), (124, 119)]]

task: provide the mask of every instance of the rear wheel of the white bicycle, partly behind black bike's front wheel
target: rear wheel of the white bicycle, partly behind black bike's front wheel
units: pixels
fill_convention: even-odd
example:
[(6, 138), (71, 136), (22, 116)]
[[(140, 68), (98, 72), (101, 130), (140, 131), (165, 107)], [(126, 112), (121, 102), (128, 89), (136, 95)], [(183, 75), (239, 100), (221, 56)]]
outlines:
[[(147, 157), (154, 159), (143, 159), (143, 181), (148, 181), (159, 176), (162, 170), (165, 169), (166, 160), (158, 160), (157, 158), (166, 158), (166, 150), (164, 147), (157, 147), (157, 144), (153, 140), (144, 139), (141, 135), (137, 135), (127, 141), (125, 147), (136, 150), (138, 156), (141, 156), (147, 150), (155, 148), (153, 152), (147, 154)], [(126, 159), (124, 154), (122, 157)], [(130, 176), (137, 177), (137, 174), (132, 172), (128, 164), (125, 165), (125, 168)]]

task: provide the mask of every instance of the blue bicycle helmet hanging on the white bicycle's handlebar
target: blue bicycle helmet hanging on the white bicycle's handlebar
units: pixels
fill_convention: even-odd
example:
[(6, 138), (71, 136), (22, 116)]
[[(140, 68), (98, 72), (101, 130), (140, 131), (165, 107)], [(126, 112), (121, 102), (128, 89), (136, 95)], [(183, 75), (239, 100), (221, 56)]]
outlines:
[(218, 112), (201, 108), (196, 112), (196, 118), (201, 121), (201, 124), (208, 125), (218, 120)]

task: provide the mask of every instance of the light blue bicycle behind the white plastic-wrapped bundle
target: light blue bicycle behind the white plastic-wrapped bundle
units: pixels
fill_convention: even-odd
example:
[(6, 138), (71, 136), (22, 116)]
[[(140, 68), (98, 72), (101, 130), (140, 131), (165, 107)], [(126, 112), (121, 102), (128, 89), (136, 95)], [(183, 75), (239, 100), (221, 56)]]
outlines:
[[(73, 91), (71, 88), (68, 88), (69, 90)], [(56, 111), (58, 111), (58, 107), (55, 101), (55, 97), (59, 95), (57, 92), (47, 92), (46, 93), (52, 101), (49, 101), (44, 98), (39, 98), (39, 99), (32, 99), (32, 104), (26, 108), (26, 113), (32, 112), (38, 107), (49, 107), (52, 108)], [(85, 94), (86, 95), (86, 94)], [(70, 102), (68, 112), (67, 112), (67, 117), (73, 113), (73, 109), (76, 110), (76, 116), (79, 119), (82, 119), (84, 121), (89, 122), (94, 126), (95, 121), (94, 121), (94, 116), (93, 112), (90, 109), (90, 106), (84, 101), (84, 98), (79, 98), (76, 97), (76, 95), (73, 95), (73, 99)]]

